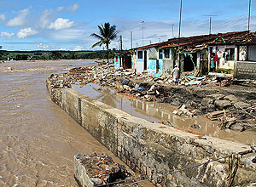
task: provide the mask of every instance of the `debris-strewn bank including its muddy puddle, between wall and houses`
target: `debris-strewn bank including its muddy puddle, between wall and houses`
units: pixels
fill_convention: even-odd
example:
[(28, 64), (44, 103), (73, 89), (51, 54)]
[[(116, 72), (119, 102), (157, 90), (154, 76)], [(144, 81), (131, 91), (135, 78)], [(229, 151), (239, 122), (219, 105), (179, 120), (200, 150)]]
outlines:
[[(200, 86), (176, 87), (170, 82), (171, 77), (113, 70), (113, 65), (74, 68), (65, 74), (51, 75), (49, 80), (55, 91), (72, 87), (132, 116), (162, 122), (184, 132), (242, 144), (253, 144), (256, 139), (256, 94), (249, 83), (225, 81), (230, 85), (220, 87), (207, 77)], [(58, 97), (57, 92), (54, 97)]]

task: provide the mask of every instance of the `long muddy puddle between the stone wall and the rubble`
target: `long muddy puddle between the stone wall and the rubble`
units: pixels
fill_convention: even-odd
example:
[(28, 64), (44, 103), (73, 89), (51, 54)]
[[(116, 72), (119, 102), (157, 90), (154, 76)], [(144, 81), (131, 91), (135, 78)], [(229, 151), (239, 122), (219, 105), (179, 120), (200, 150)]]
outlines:
[[(111, 88), (101, 88), (99, 85), (89, 83), (83, 87), (79, 84), (72, 86), (73, 89), (85, 94), (90, 98), (97, 99), (107, 105), (111, 105), (122, 111), (127, 112), (131, 116), (137, 116), (148, 120), (148, 122), (170, 122), (173, 127), (187, 133), (194, 133), (200, 136), (208, 135), (218, 137), (219, 139), (227, 139), (242, 144), (252, 142), (256, 139), (256, 134), (251, 131), (237, 132), (230, 129), (220, 129), (218, 122), (212, 122), (205, 116), (195, 116), (186, 118), (183, 116), (173, 115), (172, 111), (177, 107), (169, 104), (157, 102), (145, 102), (139, 99), (131, 99), (125, 94), (118, 94)], [(196, 125), (201, 128), (193, 128)]]

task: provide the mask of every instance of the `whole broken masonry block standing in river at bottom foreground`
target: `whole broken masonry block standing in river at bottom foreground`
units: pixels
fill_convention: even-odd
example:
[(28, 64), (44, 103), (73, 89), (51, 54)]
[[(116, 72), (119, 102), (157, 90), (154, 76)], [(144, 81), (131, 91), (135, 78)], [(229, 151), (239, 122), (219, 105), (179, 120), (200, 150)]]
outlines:
[(106, 153), (90, 156), (78, 153), (74, 160), (74, 176), (81, 186), (119, 186), (134, 182), (125, 167), (113, 162)]

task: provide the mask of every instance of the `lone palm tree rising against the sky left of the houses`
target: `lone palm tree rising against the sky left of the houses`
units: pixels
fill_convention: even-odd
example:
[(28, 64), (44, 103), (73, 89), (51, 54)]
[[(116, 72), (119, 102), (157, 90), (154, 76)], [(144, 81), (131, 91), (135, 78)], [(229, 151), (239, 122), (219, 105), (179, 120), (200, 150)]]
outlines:
[(112, 40), (114, 40), (117, 37), (117, 34), (119, 31), (116, 31), (116, 26), (110, 26), (109, 23), (105, 23), (104, 26), (98, 26), (100, 33), (96, 34), (93, 33), (90, 35), (90, 37), (96, 37), (97, 39), (100, 39), (99, 42), (96, 42), (92, 45), (92, 48), (95, 48), (96, 46), (102, 46), (102, 44), (106, 45), (107, 53), (109, 53), (109, 44)]

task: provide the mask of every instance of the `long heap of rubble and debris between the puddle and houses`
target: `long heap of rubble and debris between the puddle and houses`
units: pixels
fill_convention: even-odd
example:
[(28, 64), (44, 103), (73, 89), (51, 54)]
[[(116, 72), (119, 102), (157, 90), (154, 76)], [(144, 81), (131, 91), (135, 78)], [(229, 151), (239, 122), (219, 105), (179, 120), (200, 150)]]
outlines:
[[(49, 81), (54, 82), (51, 84), (54, 90), (71, 88), (75, 82), (79, 82), (80, 86), (93, 82), (102, 87), (113, 88), (132, 99), (177, 106), (173, 114), (178, 116), (207, 115), (211, 120), (218, 120), (224, 128), (237, 129), (235, 124), (243, 124), (243, 128), (239, 130), (244, 130), (244, 127), (255, 128), (254, 86), (247, 84), (247, 87), (253, 90), (251, 92), (243, 92), (246, 87), (242, 86), (236, 94), (236, 85), (233, 85), (236, 82), (230, 75), (214, 73), (205, 77), (198, 76), (197, 71), (183, 74), (182, 85), (174, 86), (170, 75), (159, 77), (146, 72), (136, 73), (134, 70), (115, 70), (113, 65), (101, 65), (73, 68), (65, 74), (51, 75)], [(235, 88), (230, 88), (232, 86)], [(220, 112), (217, 116), (213, 113), (212, 117), (209, 117), (211, 112), (215, 111)], [(230, 116), (226, 116), (227, 112), (224, 111), (229, 111)], [(227, 117), (231, 117), (232, 121)], [(244, 124), (248, 124), (249, 127)]]

